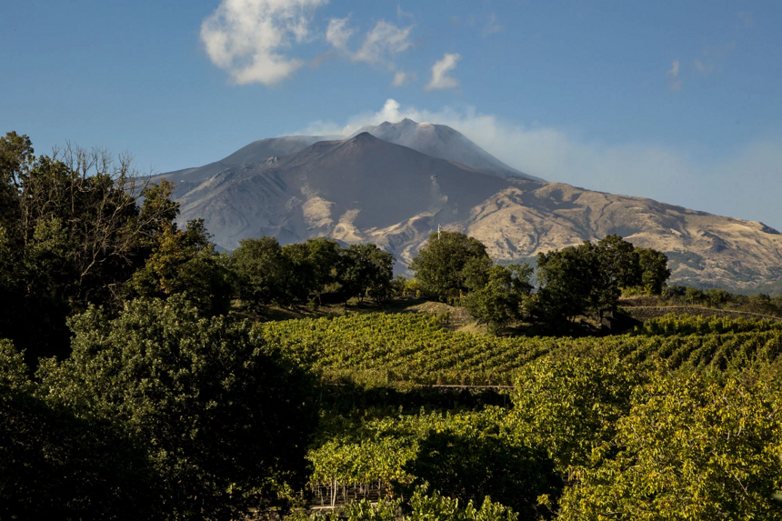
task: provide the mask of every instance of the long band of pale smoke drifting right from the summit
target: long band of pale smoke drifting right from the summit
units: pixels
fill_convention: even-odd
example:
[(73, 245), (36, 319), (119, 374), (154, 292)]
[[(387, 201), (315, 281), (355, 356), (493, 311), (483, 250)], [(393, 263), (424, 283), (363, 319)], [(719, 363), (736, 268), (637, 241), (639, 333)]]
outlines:
[(782, 135), (703, 162), (670, 145), (607, 145), (553, 127), (507, 122), (471, 106), (430, 111), (403, 107), (394, 99), (377, 112), (348, 118), (344, 125), (314, 122), (297, 134), (346, 136), (362, 126), (406, 117), (451, 126), (507, 165), (549, 181), (649, 197), (782, 228), (782, 207), (777, 204), (782, 193)]

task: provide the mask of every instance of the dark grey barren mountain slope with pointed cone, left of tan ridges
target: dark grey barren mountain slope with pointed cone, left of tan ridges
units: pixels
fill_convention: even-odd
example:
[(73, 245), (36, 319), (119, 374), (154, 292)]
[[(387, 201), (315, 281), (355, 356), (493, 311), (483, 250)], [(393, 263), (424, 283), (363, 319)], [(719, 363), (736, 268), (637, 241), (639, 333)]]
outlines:
[[(350, 242), (411, 218), (426, 234), (434, 215), (443, 224), (464, 220), (475, 205), (507, 186), (503, 177), (369, 134), (235, 165), (205, 180), (200, 173), (185, 173), (175, 182), (183, 219), (205, 218), (217, 244), (226, 248), (260, 235), (283, 242), (330, 235)], [(399, 240), (413, 240), (409, 231), (402, 234), (406, 239)]]

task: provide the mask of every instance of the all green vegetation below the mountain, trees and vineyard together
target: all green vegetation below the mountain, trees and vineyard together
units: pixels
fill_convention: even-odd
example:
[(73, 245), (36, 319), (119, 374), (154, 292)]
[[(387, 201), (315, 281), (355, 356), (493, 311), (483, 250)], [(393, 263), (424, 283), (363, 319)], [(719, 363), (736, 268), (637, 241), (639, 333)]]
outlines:
[[(218, 254), (177, 225), (171, 185), (133, 174), (0, 138), (0, 519), (782, 516), (778, 322), (555, 336), (622, 289), (674, 291), (665, 255), (609, 235), (533, 270), (444, 233), (404, 281), (376, 245)], [(411, 291), (546, 336), (379, 311)], [(256, 319), (365, 298), (375, 312)]]

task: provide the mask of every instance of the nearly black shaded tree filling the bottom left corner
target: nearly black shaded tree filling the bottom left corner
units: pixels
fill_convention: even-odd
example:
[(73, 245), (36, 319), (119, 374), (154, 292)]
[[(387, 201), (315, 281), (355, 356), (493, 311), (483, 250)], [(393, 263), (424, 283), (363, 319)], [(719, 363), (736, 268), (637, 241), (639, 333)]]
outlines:
[(155, 519), (156, 473), (121, 428), (35, 396), (0, 340), (0, 518)]

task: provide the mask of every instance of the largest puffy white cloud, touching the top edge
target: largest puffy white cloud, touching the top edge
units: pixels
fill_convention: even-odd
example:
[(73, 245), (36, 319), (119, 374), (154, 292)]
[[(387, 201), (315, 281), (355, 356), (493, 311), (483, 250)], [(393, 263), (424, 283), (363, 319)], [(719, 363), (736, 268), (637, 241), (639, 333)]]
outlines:
[(213, 64), (238, 84), (274, 85), (304, 61), (282, 51), (309, 34), (310, 15), (327, 0), (222, 0), (201, 24)]

